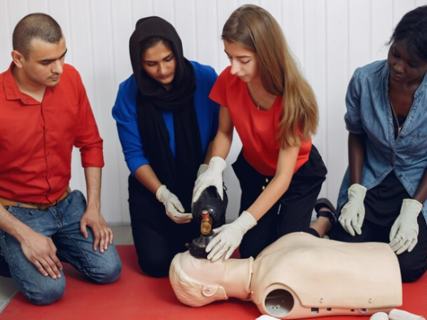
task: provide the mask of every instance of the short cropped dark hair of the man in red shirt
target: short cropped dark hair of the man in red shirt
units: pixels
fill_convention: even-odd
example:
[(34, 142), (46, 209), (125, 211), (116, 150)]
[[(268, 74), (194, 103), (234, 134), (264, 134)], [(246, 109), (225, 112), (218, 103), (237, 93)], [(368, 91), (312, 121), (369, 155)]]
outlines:
[(58, 44), (63, 32), (54, 18), (47, 14), (28, 14), (21, 18), (12, 36), (13, 48), (28, 58), (31, 52), (31, 41), (39, 38), (47, 43)]

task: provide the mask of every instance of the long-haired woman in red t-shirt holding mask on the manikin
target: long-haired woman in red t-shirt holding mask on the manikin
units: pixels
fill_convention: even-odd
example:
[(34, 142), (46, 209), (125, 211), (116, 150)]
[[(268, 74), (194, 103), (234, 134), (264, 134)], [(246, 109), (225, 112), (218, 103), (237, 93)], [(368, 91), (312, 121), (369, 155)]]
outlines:
[(208, 258), (255, 257), (282, 235), (323, 236), (333, 213), (310, 228), (312, 210), (327, 170), (312, 145), (318, 124), (315, 94), (290, 54), (282, 30), (264, 9), (244, 5), (223, 26), (231, 65), (210, 97), (221, 105), (209, 169), (194, 186), (193, 202), (208, 186), (222, 190), (222, 173), (236, 128), (243, 144), (233, 169), (241, 185), (241, 215), (216, 230)]

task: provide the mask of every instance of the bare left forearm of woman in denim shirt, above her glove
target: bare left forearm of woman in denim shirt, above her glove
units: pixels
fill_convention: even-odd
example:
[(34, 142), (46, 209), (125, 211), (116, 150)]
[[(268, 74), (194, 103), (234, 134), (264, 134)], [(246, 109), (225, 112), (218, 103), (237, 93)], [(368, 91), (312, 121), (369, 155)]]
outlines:
[(364, 161), (364, 136), (349, 134), (349, 169), (350, 184), (362, 183), (362, 167)]

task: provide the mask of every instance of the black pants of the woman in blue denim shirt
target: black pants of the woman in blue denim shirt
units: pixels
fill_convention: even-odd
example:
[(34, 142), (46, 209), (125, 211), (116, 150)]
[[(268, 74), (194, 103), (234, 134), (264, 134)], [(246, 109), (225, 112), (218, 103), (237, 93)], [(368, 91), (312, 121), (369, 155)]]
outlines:
[[(418, 242), (411, 252), (405, 251), (396, 255), (399, 260), (402, 282), (413, 282), (419, 279), (427, 270), (427, 225), (423, 214), (418, 215)], [(332, 233), (332, 239), (344, 242), (390, 242), (391, 226), (377, 225), (365, 219), (362, 225), (362, 235), (349, 235), (342, 225)]]

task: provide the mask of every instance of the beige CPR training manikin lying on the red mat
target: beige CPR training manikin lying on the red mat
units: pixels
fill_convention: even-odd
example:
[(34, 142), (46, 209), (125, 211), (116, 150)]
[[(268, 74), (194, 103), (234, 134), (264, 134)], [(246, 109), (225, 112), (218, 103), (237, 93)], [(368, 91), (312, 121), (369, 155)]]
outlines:
[(399, 263), (389, 245), (307, 233), (284, 235), (255, 260), (212, 262), (179, 253), (169, 277), (189, 306), (251, 299), (262, 314), (280, 319), (369, 315), (402, 304)]

